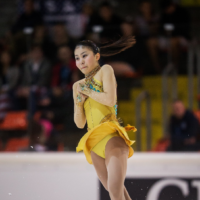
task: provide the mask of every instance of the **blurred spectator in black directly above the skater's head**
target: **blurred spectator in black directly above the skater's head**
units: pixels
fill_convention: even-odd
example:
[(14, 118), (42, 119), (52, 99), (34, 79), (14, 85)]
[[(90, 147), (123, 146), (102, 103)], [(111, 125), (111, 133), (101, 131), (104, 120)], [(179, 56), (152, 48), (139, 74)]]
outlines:
[(107, 42), (121, 35), (121, 23), (122, 19), (114, 13), (112, 6), (108, 2), (103, 2), (99, 6), (98, 13), (90, 17), (87, 33), (91, 34), (89, 37), (95, 42), (99, 42), (99, 39), (101, 42)]

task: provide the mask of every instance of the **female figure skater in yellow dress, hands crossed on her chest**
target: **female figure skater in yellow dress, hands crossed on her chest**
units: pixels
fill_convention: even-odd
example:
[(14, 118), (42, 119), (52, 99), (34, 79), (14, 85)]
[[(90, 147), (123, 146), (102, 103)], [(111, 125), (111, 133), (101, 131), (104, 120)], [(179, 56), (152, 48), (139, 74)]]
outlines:
[[(75, 47), (75, 60), (85, 78), (73, 85), (74, 121), (88, 132), (80, 139), (76, 151), (83, 151), (93, 164), (111, 200), (131, 200), (125, 186), (127, 159), (134, 153), (128, 131), (137, 131), (128, 124), (123, 127), (117, 119), (117, 83), (113, 68), (99, 65), (101, 56), (120, 53), (135, 44), (134, 36), (121, 37), (99, 48), (90, 40)], [(100, 53), (101, 52), (101, 53)]]

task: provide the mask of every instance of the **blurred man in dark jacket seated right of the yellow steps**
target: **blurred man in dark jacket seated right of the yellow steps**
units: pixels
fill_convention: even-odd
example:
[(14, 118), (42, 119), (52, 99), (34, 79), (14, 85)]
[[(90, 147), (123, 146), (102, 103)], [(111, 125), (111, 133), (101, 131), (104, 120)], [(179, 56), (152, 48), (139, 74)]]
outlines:
[(200, 134), (200, 124), (195, 115), (185, 108), (181, 100), (172, 104), (172, 115), (169, 121), (169, 136), (171, 146), (169, 151), (198, 151), (200, 144), (197, 138)]

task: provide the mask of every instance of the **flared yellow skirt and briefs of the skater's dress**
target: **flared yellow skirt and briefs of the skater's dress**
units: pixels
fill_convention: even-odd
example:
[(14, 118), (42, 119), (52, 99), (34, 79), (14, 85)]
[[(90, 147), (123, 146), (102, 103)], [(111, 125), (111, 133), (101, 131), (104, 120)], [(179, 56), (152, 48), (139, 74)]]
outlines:
[(76, 152), (83, 151), (88, 163), (93, 164), (90, 151), (96, 151), (98, 155), (105, 158), (105, 145), (108, 140), (111, 137), (116, 136), (115, 134), (117, 133), (117, 135), (122, 137), (126, 144), (129, 146), (128, 158), (130, 158), (134, 153), (131, 145), (135, 142), (135, 140), (130, 140), (128, 131), (135, 132), (137, 129), (134, 126), (130, 126), (129, 124), (126, 127), (122, 127), (116, 121), (108, 121), (99, 124), (84, 134), (76, 147)]

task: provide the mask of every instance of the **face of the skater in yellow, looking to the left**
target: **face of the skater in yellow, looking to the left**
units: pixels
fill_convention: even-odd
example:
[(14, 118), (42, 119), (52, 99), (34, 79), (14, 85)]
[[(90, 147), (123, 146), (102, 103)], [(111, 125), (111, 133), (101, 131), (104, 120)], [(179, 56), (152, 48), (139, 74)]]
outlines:
[(76, 66), (81, 70), (83, 74), (88, 74), (97, 65), (100, 54), (94, 54), (94, 52), (86, 46), (77, 46), (75, 51)]

